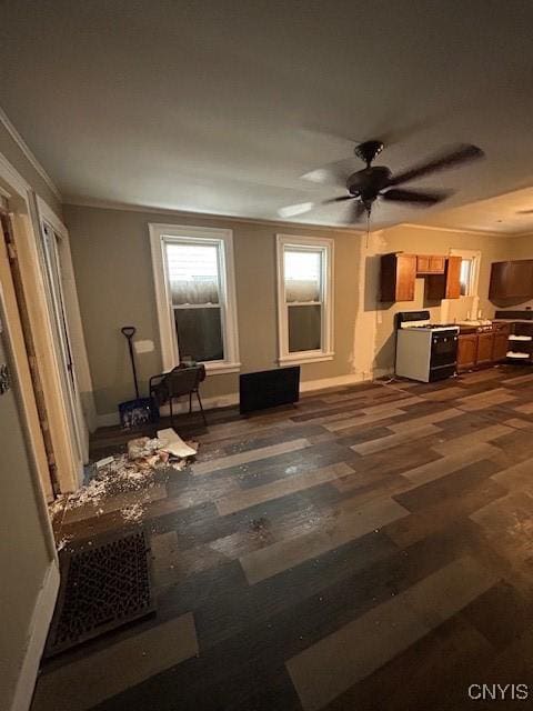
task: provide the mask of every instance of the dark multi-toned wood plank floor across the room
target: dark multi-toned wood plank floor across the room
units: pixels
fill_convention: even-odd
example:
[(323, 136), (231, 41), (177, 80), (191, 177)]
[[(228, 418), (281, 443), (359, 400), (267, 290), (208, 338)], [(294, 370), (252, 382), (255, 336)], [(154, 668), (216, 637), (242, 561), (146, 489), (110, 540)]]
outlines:
[[(185, 470), (57, 512), (58, 540), (144, 527), (158, 611), (44, 664), (33, 711), (531, 705), (531, 369), (208, 418), (177, 423)], [(127, 439), (98, 432), (93, 457)]]

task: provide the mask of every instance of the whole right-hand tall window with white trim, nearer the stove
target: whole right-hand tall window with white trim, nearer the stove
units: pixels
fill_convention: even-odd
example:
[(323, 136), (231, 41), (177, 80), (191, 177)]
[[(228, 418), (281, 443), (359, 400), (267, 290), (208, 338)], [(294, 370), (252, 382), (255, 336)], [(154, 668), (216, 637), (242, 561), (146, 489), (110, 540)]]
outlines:
[(331, 360), (333, 242), (278, 236), (280, 362)]

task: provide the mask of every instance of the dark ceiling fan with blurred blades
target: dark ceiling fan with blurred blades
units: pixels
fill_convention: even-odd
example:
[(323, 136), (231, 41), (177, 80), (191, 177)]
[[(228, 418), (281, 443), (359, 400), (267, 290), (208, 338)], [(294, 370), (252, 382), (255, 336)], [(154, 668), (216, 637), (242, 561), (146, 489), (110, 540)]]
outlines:
[[(385, 166), (372, 166), (372, 162), (382, 152), (383, 148), (382, 141), (378, 140), (364, 141), (355, 146), (355, 156), (366, 163), (365, 168), (356, 172), (349, 171), (346, 160), (343, 160), (308, 173), (308, 179), (314, 182), (334, 181), (338, 184), (344, 184), (348, 190), (348, 194), (330, 198), (321, 204), (353, 200), (349, 222), (359, 221), (365, 213), (370, 218), (372, 207), (378, 198), (386, 201), (406, 202), (419, 207), (431, 207), (445, 200), (451, 192), (444, 190), (405, 190), (398, 188), (398, 186), (439, 170), (471, 162), (484, 156), (481, 148), (463, 143), (394, 176), (391, 169)], [(279, 214), (289, 218), (308, 212), (313, 208), (314, 203), (304, 202), (281, 208)]]

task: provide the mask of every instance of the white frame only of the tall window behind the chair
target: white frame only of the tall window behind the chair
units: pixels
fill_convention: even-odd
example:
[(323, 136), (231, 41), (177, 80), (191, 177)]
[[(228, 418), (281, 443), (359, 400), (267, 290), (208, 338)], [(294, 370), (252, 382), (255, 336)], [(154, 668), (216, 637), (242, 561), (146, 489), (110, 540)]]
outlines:
[[(163, 371), (180, 362), (178, 333), (174, 322), (174, 304), (170, 292), (167, 268), (167, 243), (212, 244), (218, 248), (220, 308), (223, 360), (205, 361), (208, 374), (239, 372), (239, 331), (237, 317), (235, 272), (232, 230), (182, 224), (150, 223), (155, 300), (158, 307), (159, 337)], [(192, 307), (193, 308), (193, 307)]]

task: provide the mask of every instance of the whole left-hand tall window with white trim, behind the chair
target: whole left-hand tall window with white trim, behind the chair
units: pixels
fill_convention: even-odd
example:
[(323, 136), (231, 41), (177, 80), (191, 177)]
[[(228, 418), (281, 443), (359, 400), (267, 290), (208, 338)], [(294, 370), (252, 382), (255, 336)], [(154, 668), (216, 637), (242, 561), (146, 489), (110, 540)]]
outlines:
[(151, 224), (150, 239), (164, 370), (238, 371), (231, 230)]

